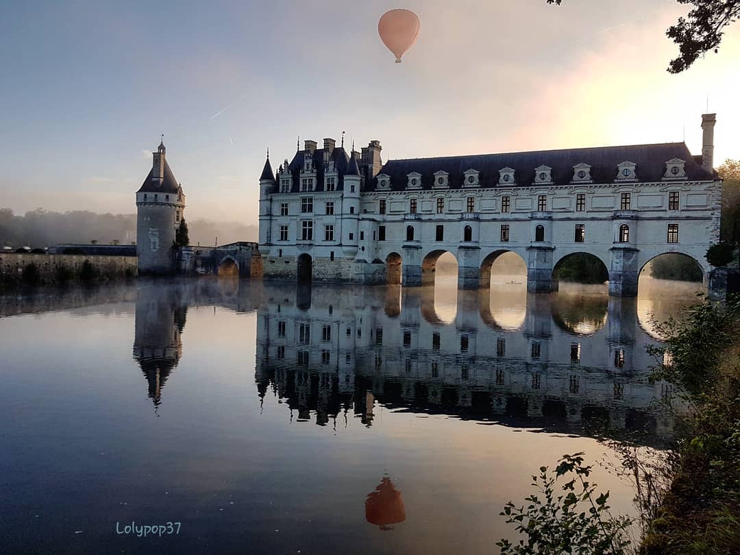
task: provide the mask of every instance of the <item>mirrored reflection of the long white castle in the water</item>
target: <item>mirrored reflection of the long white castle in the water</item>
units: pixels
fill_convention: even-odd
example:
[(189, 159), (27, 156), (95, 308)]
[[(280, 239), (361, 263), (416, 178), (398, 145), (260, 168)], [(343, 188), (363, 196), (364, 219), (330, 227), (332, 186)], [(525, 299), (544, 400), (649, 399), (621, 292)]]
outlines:
[(670, 434), (661, 403), (670, 389), (648, 381), (655, 361), (645, 346), (654, 340), (637, 325), (634, 298), (460, 290), (445, 324), (434, 288), (264, 292), (258, 389), (272, 388), (299, 419), (314, 411), (323, 425), (354, 411), (371, 425), (377, 400), (517, 425), (570, 429), (595, 419)]

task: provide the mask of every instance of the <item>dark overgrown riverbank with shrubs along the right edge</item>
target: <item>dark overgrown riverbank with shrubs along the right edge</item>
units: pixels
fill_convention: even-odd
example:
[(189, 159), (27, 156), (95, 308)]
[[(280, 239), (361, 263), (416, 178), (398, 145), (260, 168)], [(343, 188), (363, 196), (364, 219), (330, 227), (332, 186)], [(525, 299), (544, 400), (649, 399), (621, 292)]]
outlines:
[(727, 554), (740, 546), (740, 303), (704, 303), (665, 324), (656, 378), (693, 408), (673, 480), (642, 539), (644, 554)]

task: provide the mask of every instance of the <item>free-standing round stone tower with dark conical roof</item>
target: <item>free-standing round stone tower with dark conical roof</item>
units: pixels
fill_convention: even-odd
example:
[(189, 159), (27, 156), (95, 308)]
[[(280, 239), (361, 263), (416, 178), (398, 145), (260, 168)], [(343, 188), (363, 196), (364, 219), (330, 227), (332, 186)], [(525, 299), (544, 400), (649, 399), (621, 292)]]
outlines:
[(136, 255), (139, 275), (175, 271), (175, 233), (185, 212), (185, 193), (165, 158), (164, 141), (152, 152), (152, 170), (136, 192)]

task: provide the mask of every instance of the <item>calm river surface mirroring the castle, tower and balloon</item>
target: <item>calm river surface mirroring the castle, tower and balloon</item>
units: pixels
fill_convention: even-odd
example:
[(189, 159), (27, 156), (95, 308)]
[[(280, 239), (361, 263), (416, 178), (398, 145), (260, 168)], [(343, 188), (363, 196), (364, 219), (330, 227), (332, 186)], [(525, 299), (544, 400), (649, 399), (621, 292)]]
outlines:
[(604, 425), (670, 437), (645, 346), (693, 286), (439, 281), (0, 297), (0, 551), (497, 552), (539, 465), (608, 457)]

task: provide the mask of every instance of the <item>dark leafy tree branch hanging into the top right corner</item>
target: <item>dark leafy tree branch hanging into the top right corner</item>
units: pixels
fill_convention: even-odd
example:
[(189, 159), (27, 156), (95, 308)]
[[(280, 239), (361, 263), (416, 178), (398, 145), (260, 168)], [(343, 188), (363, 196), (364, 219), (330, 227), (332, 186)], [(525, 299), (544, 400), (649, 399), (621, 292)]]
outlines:
[[(665, 34), (679, 47), (679, 56), (670, 61), (669, 73), (687, 70), (700, 56), (719, 50), (727, 25), (740, 19), (740, 0), (676, 0), (691, 4), (688, 16), (680, 17)], [(561, 4), (562, 0), (547, 0), (548, 4)]]

